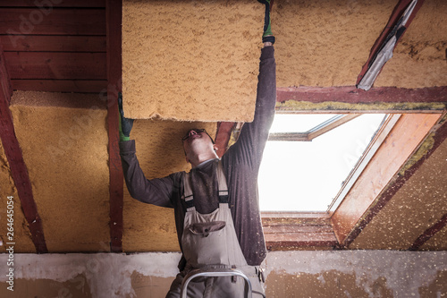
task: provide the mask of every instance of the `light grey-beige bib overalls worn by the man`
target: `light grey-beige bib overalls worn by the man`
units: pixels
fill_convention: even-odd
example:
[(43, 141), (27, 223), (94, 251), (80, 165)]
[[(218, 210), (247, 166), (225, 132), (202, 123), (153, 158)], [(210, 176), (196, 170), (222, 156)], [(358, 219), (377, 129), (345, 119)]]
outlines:
[[(183, 176), (184, 200), (187, 211), (181, 236), (186, 268), (176, 277), (166, 298), (179, 297), (181, 281), (195, 268), (238, 268), (251, 282), (253, 297), (264, 297), (259, 281), (259, 268), (247, 265), (234, 230), (232, 213), (228, 207), (228, 187), (221, 161), (217, 166), (219, 208), (200, 214), (194, 206), (190, 175)], [(188, 286), (188, 297), (238, 298), (244, 297), (241, 277), (199, 277)]]

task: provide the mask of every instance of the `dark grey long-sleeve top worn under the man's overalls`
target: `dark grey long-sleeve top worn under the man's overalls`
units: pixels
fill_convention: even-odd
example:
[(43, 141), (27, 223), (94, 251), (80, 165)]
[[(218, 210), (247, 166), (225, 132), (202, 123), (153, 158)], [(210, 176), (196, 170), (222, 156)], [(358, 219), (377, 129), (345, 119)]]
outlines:
[[(260, 265), (266, 258), (257, 196), (257, 173), (274, 118), (275, 99), (274, 47), (264, 47), (259, 64), (254, 120), (243, 125), (239, 140), (222, 157), (234, 227), (240, 248), (251, 266)], [(148, 180), (139, 167), (135, 141), (120, 142), (120, 151), (124, 178), (131, 196), (145, 203), (173, 208), (181, 245), (186, 212), (184, 200), (181, 200), (184, 172)], [(218, 207), (216, 166), (217, 159), (190, 171), (194, 201), (200, 213), (210, 213)], [(179, 268), (182, 270), (184, 265), (182, 258)]]

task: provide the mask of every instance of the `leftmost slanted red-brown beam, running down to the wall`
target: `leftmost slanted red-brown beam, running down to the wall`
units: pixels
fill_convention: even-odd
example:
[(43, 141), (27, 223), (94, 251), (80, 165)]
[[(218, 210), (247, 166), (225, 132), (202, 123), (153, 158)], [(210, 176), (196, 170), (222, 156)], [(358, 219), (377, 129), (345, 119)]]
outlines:
[(21, 154), (21, 146), (14, 132), (13, 117), (9, 109), (12, 88), (6, 72), (3, 50), (0, 45), (0, 137), (8, 159), (11, 175), (21, 200), (21, 209), (28, 221), (32, 242), (38, 253), (45, 253), (46, 242), (38, 207), (32, 194), (30, 176)]

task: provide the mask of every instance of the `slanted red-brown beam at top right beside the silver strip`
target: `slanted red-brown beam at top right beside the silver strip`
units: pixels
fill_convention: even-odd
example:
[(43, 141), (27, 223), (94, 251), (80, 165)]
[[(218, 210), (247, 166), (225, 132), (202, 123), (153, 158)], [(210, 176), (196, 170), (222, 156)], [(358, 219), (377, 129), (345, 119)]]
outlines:
[[(396, 25), (397, 21), (399, 21), (399, 19), (401, 18), (402, 13), (408, 7), (408, 5), (409, 5), (409, 3), (411, 3), (411, 1), (412, 0), (400, 0), (399, 3), (394, 7), (394, 10), (392, 11), (392, 15), (390, 17), (390, 20), (388, 20), (388, 23), (386, 24), (386, 26), (385, 26), (384, 30), (382, 31), (382, 33), (380, 34), (379, 38), (377, 38), (375, 40), (375, 43), (374, 43), (373, 47), (371, 47), (371, 51), (370, 51), (369, 57), (367, 58), (367, 63), (363, 65), (362, 70), (358, 74), (358, 78), (357, 78), (356, 84), (358, 84), (361, 81), (361, 79), (363, 78), (363, 76), (367, 72), (367, 69), (368, 69), (369, 65), (372, 64), (372, 62), (374, 61), (375, 55), (377, 55), (377, 53), (381, 49), (382, 45), (384, 44), (384, 40), (386, 39), (388, 34), (392, 31), (392, 29)], [(424, 4), (424, 0), (418, 0), (417, 1), (417, 4), (416, 4), (415, 8), (413, 9), (413, 12), (409, 16), (409, 20), (405, 24), (406, 28), (409, 27), (409, 24), (411, 23), (411, 21), (413, 21), (414, 17), (417, 14), (417, 11), (422, 6), (422, 4)], [(396, 40), (396, 45), (399, 42), (399, 40), (401, 40), (403, 34), (405, 34), (405, 32), (403, 32), (401, 37)]]

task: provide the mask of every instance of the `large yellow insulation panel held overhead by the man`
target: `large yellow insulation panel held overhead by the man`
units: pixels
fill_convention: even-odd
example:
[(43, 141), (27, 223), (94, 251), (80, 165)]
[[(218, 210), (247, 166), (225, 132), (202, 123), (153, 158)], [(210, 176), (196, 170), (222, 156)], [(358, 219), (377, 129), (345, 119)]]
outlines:
[(123, 1), (126, 116), (252, 121), (264, 12), (252, 0)]

